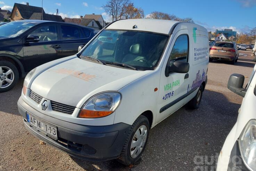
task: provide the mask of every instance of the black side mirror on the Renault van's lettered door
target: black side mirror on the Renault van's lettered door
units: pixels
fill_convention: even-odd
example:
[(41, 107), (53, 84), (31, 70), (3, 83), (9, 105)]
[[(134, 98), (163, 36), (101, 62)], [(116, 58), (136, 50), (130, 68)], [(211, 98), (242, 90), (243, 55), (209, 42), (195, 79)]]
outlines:
[(176, 73), (187, 73), (189, 71), (189, 63), (185, 61), (174, 61), (170, 66), (172, 61), (168, 61), (165, 76), (168, 77), (171, 72)]

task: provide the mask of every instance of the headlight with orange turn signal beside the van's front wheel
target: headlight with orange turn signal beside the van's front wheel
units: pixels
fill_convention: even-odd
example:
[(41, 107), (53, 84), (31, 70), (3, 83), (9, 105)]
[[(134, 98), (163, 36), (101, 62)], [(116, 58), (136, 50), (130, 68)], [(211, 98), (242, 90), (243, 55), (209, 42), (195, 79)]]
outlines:
[(102, 92), (85, 102), (79, 118), (101, 118), (113, 113), (121, 102), (121, 94), (115, 91)]

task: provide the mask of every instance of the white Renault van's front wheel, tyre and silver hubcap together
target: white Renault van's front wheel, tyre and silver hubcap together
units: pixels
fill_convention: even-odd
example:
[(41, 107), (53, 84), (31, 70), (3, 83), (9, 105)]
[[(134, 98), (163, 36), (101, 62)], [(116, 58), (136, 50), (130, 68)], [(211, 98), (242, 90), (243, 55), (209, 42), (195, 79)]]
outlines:
[(148, 118), (140, 115), (125, 139), (122, 152), (117, 159), (120, 163), (129, 166), (140, 159), (148, 141), (149, 129)]

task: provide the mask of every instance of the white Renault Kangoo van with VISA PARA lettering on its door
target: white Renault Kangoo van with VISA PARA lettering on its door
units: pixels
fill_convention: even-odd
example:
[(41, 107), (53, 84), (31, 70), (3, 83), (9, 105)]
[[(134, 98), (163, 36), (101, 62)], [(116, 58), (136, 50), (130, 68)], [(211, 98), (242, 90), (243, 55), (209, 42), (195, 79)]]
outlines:
[(130, 165), (151, 128), (186, 103), (199, 107), (208, 46), (193, 23), (118, 20), (79, 53), (30, 71), (19, 112), (33, 135), (72, 156)]

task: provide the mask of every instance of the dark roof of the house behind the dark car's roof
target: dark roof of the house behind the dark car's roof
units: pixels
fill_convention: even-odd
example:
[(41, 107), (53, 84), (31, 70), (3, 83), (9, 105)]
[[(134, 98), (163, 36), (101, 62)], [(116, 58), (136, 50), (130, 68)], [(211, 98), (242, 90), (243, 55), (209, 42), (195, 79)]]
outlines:
[[(30, 19), (30, 17), (32, 16), (32, 14), (34, 12), (37, 13), (42, 13), (42, 8), (41, 7), (35, 7), (35, 6), (31, 6), (31, 5), (24, 5), (24, 4), (20, 4), (20, 3), (14, 3), (14, 7), (17, 7), (19, 10), (20, 15), (22, 16), (23, 19)], [(14, 9), (14, 8), (13, 8)], [(13, 10), (11, 11), (11, 14), (13, 13)], [(43, 10), (43, 14), (45, 14), (44, 10)]]

